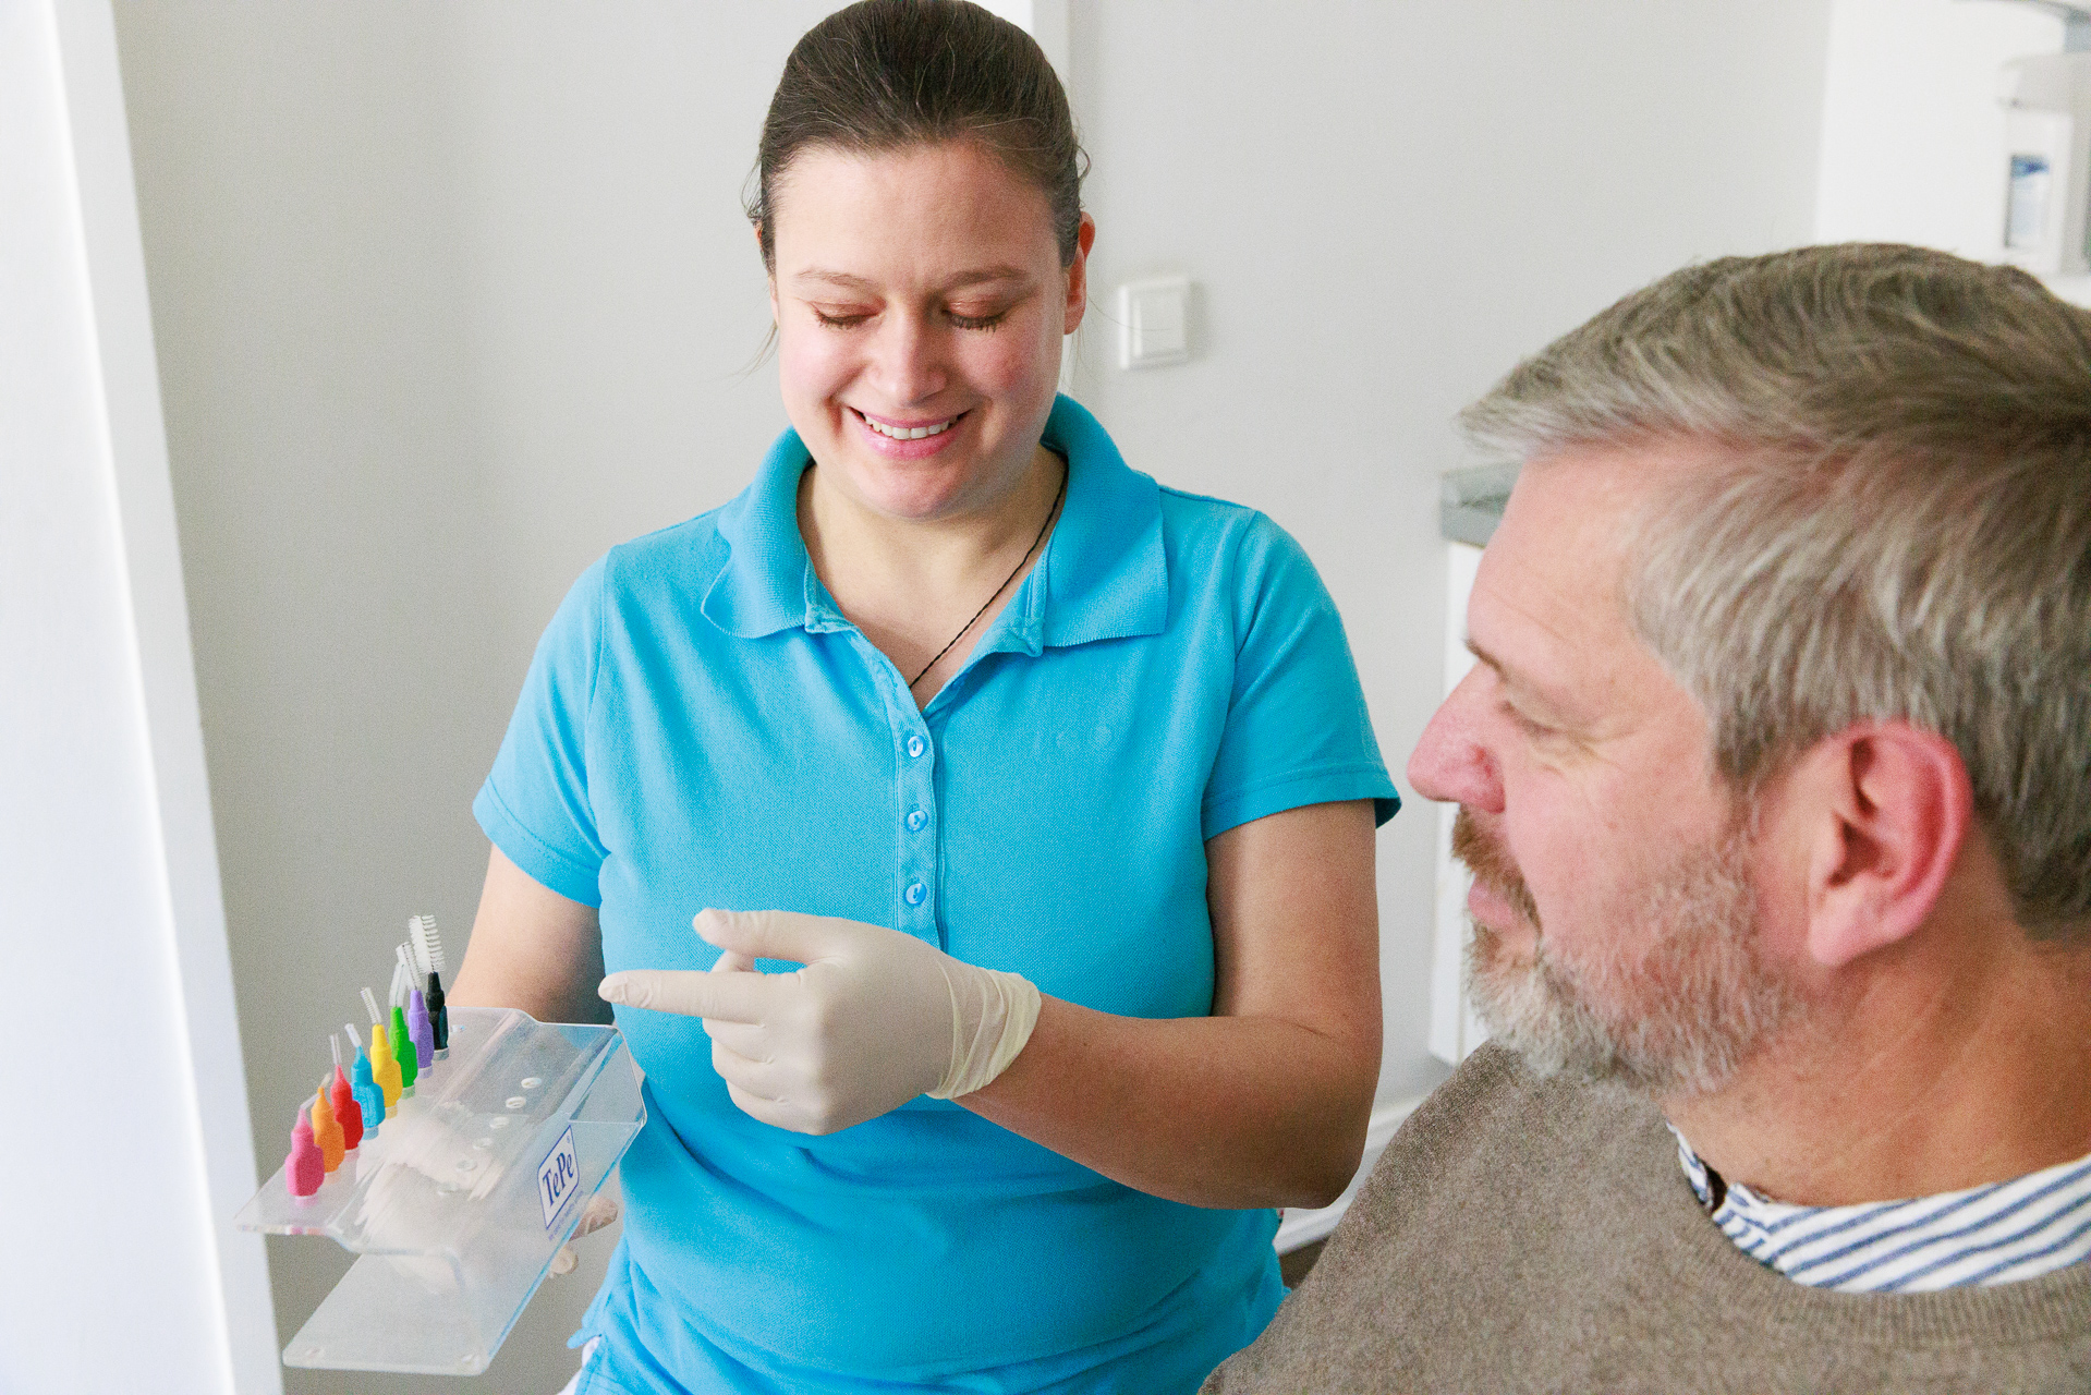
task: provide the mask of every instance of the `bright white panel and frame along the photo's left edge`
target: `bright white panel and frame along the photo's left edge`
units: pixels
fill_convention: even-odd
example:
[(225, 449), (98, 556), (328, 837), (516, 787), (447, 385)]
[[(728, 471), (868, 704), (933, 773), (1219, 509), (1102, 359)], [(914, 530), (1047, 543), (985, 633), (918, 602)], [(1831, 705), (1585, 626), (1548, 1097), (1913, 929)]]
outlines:
[(115, 31), (0, 4), (0, 1389), (280, 1389)]

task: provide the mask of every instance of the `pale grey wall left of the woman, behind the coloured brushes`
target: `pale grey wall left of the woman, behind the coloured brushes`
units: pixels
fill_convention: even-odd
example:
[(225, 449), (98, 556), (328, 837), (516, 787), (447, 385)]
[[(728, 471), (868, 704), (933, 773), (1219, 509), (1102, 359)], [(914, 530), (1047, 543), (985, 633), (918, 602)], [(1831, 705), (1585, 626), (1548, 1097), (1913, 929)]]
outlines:
[[(406, 916), (460, 956), (468, 805), (569, 581), (782, 425), (738, 195), (824, 8), (117, 6), (263, 1175)], [(268, 1244), (289, 1341), (349, 1257)], [(483, 1389), (558, 1389), (608, 1249)]]

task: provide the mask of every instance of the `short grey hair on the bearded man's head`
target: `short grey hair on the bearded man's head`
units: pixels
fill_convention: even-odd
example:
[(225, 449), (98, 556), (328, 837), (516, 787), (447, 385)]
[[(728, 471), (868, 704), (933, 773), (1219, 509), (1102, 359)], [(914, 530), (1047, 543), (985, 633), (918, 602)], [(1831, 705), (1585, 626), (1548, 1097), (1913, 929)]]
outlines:
[(1815, 740), (1947, 736), (2035, 937), (2091, 929), (2091, 312), (1920, 247), (1725, 257), (1518, 364), (1462, 425), (1526, 460), (1731, 462), (1637, 521), (1625, 604), (1756, 795)]

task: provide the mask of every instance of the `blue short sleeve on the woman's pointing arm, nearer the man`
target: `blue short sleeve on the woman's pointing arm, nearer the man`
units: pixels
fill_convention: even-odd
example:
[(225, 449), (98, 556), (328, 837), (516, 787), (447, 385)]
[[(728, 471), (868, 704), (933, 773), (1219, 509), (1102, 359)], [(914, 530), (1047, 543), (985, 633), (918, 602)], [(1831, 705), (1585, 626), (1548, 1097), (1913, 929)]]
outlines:
[(1236, 552), (1236, 663), (1204, 793), (1204, 837), (1311, 803), (1401, 807), (1336, 602), (1307, 552), (1257, 514)]

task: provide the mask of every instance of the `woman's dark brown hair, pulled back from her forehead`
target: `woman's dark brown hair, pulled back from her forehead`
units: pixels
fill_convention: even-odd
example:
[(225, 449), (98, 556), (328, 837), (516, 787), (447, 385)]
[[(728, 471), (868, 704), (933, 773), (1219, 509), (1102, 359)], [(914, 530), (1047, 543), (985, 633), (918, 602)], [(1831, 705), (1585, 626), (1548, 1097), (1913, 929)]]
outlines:
[(1060, 266), (1075, 261), (1087, 157), (1037, 42), (968, 0), (861, 0), (807, 29), (784, 59), (746, 203), (763, 266), (776, 270), (776, 188), (801, 151), (872, 155), (937, 140), (976, 140), (1043, 192)]

